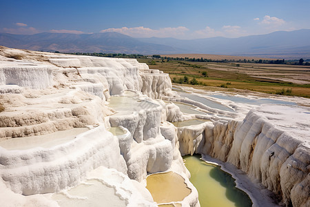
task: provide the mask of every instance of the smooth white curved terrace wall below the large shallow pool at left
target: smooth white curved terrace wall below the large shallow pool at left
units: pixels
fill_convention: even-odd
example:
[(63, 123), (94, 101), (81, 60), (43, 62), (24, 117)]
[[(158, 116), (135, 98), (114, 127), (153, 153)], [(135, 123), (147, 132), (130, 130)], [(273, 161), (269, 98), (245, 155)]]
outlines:
[(127, 173), (118, 140), (105, 126), (83, 132), (72, 141), (52, 148), (0, 148), (0, 152), (3, 181), (12, 191), (23, 195), (54, 193), (74, 186), (87, 171), (99, 166)]

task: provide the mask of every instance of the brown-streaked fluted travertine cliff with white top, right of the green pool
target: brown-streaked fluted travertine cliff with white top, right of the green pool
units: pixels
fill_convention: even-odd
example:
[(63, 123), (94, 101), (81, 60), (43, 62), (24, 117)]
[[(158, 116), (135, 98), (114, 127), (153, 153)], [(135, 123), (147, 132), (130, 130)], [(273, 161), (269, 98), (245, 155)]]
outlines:
[(199, 136), (194, 132), (179, 139), (191, 141), (192, 150), (198, 145), (197, 153), (234, 164), (285, 205), (308, 206), (309, 112), (299, 106), (264, 105), (251, 110), (243, 121), (207, 124), (204, 139), (195, 139)]

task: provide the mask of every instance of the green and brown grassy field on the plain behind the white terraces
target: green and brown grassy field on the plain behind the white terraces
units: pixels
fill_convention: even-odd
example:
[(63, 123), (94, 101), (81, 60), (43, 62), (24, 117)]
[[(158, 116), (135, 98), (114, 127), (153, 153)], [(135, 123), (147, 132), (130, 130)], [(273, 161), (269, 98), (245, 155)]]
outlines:
[[(138, 58), (149, 68), (169, 73), (173, 82), (186, 84), (195, 78), (196, 86), (215, 86), (220, 90), (251, 90), (268, 94), (310, 98), (310, 66), (266, 63), (218, 63), (167, 61)], [(183, 79), (183, 81), (182, 81)], [(185, 78), (186, 79), (186, 78)]]

